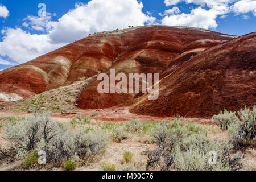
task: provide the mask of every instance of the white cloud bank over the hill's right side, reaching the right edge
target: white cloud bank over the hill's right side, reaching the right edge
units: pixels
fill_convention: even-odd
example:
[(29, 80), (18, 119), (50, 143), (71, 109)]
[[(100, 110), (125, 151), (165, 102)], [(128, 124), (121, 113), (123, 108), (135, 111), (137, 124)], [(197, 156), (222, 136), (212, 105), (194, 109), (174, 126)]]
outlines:
[[(224, 19), (228, 13), (249, 13), (256, 16), (255, 0), (165, 0), (166, 6), (174, 6), (180, 2), (200, 5), (190, 13), (167, 14), (164, 11), (162, 24), (172, 26), (191, 26), (198, 28), (216, 28), (217, 17)], [(173, 7), (174, 8), (174, 7)], [(160, 14), (162, 15), (162, 14)], [(243, 16), (245, 18), (247, 16)]]

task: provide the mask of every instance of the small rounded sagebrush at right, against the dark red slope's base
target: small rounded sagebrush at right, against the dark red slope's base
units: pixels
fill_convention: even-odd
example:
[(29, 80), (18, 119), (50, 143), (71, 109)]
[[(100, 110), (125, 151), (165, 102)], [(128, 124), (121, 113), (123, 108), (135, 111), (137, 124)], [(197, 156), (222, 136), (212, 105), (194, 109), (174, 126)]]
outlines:
[(235, 112), (224, 110), (224, 112), (221, 111), (218, 115), (213, 115), (212, 122), (221, 129), (227, 130), (229, 125), (232, 123), (238, 123), (240, 121)]

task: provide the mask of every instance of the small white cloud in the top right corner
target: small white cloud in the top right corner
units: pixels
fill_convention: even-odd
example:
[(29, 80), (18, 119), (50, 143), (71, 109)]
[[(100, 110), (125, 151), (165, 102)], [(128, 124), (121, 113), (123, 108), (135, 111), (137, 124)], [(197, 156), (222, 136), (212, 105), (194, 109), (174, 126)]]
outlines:
[(256, 1), (255, 0), (241, 0), (233, 5), (235, 13), (253, 13), (256, 16)]

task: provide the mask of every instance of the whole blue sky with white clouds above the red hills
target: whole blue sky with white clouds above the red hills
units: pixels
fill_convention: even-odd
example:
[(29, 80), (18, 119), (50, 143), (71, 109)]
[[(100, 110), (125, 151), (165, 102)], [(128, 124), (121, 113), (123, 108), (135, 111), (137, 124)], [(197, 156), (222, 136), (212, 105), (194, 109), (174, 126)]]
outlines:
[[(46, 5), (40, 17), (39, 3)], [(1, 0), (0, 70), (90, 33), (167, 24), (232, 35), (256, 30), (255, 0)]]

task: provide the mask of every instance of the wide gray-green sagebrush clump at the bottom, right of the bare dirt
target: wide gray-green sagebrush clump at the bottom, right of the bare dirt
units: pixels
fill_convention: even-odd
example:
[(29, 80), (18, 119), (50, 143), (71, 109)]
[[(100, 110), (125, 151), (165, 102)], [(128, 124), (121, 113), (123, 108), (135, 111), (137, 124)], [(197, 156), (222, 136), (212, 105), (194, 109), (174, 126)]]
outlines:
[[(240, 153), (232, 154), (230, 143), (210, 141), (201, 127), (193, 123), (184, 123), (179, 119), (163, 122), (152, 131), (152, 137), (158, 148), (147, 151), (148, 169), (160, 170), (238, 170), (242, 164)], [(195, 128), (197, 128), (195, 130)], [(217, 164), (210, 165), (209, 152), (217, 154)]]

